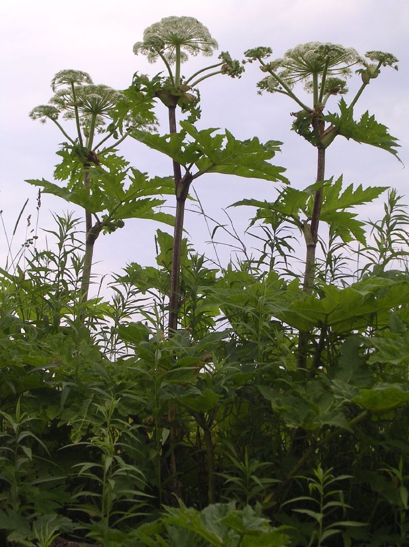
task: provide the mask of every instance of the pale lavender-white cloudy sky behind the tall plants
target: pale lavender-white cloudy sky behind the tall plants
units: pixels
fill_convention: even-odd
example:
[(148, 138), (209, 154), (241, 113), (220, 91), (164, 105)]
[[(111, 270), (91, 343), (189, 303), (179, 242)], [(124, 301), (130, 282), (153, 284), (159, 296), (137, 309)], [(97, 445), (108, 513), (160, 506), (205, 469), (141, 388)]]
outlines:
[[(32, 214), (29, 231), (35, 224), (36, 188), (24, 181), (36, 178), (52, 181), (58, 161), (55, 153), (63, 138), (57, 127), (51, 123), (41, 125), (28, 117), (34, 106), (48, 102), (52, 96), (50, 81), (54, 74), (67, 68), (79, 69), (90, 73), (97, 84), (125, 89), (135, 71), (150, 75), (160, 72), (160, 63), (149, 65), (142, 55), (133, 54), (132, 46), (142, 40), (146, 27), (170, 15), (195, 17), (218, 40), (220, 51), (228, 50), (237, 59), (243, 58), (245, 50), (258, 45), (271, 46), (273, 57), (281, 57), (289, 48), (312, 40), (352, 46), (361, 54), (374, 49), (393, 53), (400, 61), (399, 72), (384, 69), (379, 78), (372, 80), (355, 107), (355, 117), (365, 110), (375, 114), (400, 139), (400, 158), (404, 165), (409, 164), (407, 0), (116, 0), (115, 3), (2, 0), (0, 210), (4, 228), (0, 225), (0, 267), (4, 267), (7, 257), (7, 237), (10, 241), (27, 198), (14, 236), (13, 253), (24, 243), (28, 214)], [(205, 62), (208, 63), (207, 59)], [(202, 63), (199, 57), (186, 63), (186, 74), (195, 72), (194, 68), (203, 66)], [(261, 142), (282, 141), (282, 152), (273, 162), (287, 168), (285, 174), (295, 188), (305, 188), (314, 182), (316, 151), (290, 130), (290, 112), (296, 108), (288, 97), (257, 95), (255, 84), (263, 75), (253, 63), (247, 65), (239, 80), (218, 76), (203, 82), (202, 118), (198, 127), (226, 127), (240, 139), (258, 136)], [(350, 80), (351, 95), (359, 85), (359, 77)], [(336, 110), (335, 102), (333, 107)], [(158, 104), (157, 115), (166, 121), (164, 108)], [(165, 123), (160, 131), (167, 132)], [(121, 153), (131, 165), (150, 176), (172, 172), (170, 160), (133, 139), (125, 141)], [(337, 137), (326, 155), (326, 175), (338, 177), (341, 173), (344, 184), (390, 186), (407, 195), (407, 167), (383, 150)], [(223, 209), (232, 202), (251, 197), (272, 201), (277, 189), (277, 184), (271, 182), (217, 174), (203, 176), (195, 184), (206, 214), (221, 224), (228, 222)], [(378, 219), (382, 216), (382, 203), (381, 197), (361, 208), (360, 216)], [(53, 229), (52, 212), (62, 214), (72, 210), (71, 204), (43, 195), (39, 235), (44, 237), (44, 229)], [(253, 210), (242, 207), (228, 211), (237, 232), (242, 234)], [(130, 261), (154, 264), (154, 233), (158, 227), (170, 231), (148, 220), (130, 219), (124, 229), (101, 235), (95, 245), (94, 271), (120, 272)], [(185, 228), (196, 250), (214, 258), (203, 218), (188, 211)], [(251, 247), (256, 241), (247, 244)], [(223, 246), (220, 252), (227, 259), (230, 249)]]

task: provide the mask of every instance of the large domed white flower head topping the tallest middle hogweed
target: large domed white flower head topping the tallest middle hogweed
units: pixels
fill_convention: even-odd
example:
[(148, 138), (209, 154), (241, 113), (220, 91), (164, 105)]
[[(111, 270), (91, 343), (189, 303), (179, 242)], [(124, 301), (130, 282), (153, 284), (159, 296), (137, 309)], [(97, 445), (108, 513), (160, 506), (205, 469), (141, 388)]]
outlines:
[(176, 48), (180, 48), (180, 62), (190, 55), (210, 56), (218, 48), (208, 29), (193, 17), (166, 17), (148, 27), (143, 42), (133, 46), (133, 53), (142, 53), (154, 62), (160, 56), (171, 65), (176, 62)]

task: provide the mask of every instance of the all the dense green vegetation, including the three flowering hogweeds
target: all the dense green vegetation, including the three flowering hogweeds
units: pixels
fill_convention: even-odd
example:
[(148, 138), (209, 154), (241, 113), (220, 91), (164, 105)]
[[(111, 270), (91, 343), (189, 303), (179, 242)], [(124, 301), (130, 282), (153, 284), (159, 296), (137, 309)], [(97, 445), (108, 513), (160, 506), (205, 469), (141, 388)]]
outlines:
[[(340, 135), (396, 155), (387, 127), (353, 109), (397, 60), (313, 42), (272, 61), (265, 47), (244, 64), (223, 52), (182, 76), (188, 54), (215, 48), (195, 19), (164, 19), (134, 51), (161, 59), (166, 77), (136, 73), (119, 92), (61, 71), (31, 113), (65, 138), (57, 182), (28, 181), (37, 210), (46, 193), (83, 208), (85, 242), (79, 218), (55, 214), (48, 247), (31, 237), (0, 270), (4, 545), (407, 544), (409, 216), (389, 190), (384, 217), (364, 223), (352, 208), (387, 189), (325, 175)], [(318, 152), (304, 190), (271, 162), (279, 141), (195, 127), (198, 84), (240, 78), (247, 62), (267, 74), (260, 92), (301, 108), (293, 129)], [(336, 110), (351, 75), (361, 88)], [(166, 135), (155, 132), (156, 102), (168, 109)], [(130, 166), (116, 148), (125, 138), (169, 156), (173, 176)], [(229, 231), (243, 250), (228, 264), (196, 254), (183, 234), (191, 182), (215, 172), (277, 183), (274, 202), (234, 204), (253, 207), (259, 253), (215, 224), (212, 238)], [(175, 218), (160, 210), (172, 194)], [(131, 261), (102, 297), (94, 246), (131, 217), (174, 225), (174, 236), (157, 230), (157, 267)]]

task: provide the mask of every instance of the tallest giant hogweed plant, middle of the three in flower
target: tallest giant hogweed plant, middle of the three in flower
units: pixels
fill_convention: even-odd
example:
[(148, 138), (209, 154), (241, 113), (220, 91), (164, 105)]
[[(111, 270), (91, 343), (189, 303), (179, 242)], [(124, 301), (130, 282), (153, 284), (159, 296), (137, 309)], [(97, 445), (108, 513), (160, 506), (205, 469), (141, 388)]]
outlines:
[[(172, 266), (170, 280), (170, 301), (168, 331), (178, 328), (180, 310), (180, 249), (182, 245), (185, 202), (190, 184), (206, 172), (234, 173), (244, 177), (265, 178), (271, 181), (284, 180), (281, 168), (273, 167), (266, 160), (271, 159), (281, 143), (270, 141), (261, 145), (258, 139), (236, 141), (229, 131), (225, 135), (212, 136), (213, 129), (197, 131), (189, 121), (180, 123), (182, 131), (177, 132), (176, 108), (190, 110), (188, 120), (200, 115), (197, 85), (217, 74), (232, 78), (241, 77), (243, 67), (232, 60), (228, 52), (222, 52), (219, 62), (198, 69), (189, 77), (182, 75), (182, 63), (189, 55), (211, 56), (218, 44), (208, 29), (192, 17), (168, 17), (148, 27), (142, 42), (133, 46), (135, 54), (142, 53), (150, 62), (160, 59), (167, 71), (167, 77), (157, 75), (152, 80), (145, 76), (135, 77), (135, 84), (158, 97), (168, 108), (169, 136), (157, 138), (148, 133), (139, 133), (136, 138), (151, 148), (169, 155), (173, 161), (174, 191), (176, 195), (176, 218), (173, 236)], [(134, 134), (135, 136), (135, 134)], [(185, 142), (190, 136), (193, 142)], [(225, 146), (223, 146), (225, 144)], [(195, 173), (191, 172), (193, 166)], [(182, 167), (184, 174), (182, 174)]]

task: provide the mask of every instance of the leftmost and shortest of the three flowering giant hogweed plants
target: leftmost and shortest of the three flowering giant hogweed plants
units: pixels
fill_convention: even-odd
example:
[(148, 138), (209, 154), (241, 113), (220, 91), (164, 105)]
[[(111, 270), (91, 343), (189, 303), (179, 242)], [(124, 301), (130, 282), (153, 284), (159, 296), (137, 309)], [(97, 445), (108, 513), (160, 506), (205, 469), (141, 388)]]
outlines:
[[(155, 218), (173, 224), (170, 215), (156, 211), (163, 201), (152, 197), (169, 193), (170, 187), (167, 178), (149, 179), (116, 154), (116, 147), (135, 129), (154, 128), (156, 119), (146, 95), (135, 88), (122, 92), (95, 85), (89, 74), (76, 70), (58, 72), (51, 89), (54, 96), (49, 103), (33, 108), (30, 117), (41, 123), (52, 121), (66, 139), (57, 152), (62, 161), (54, 177), (68, 182), (63, 188), (44, 179), (27, 182), (84, 208), (81, 296), (86, 301), (97, 237), (122, 228), (125, 218)], [(72, 124), (63, 124), (63, 120), (74, 122), (73, 131)]]

